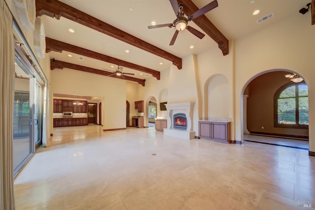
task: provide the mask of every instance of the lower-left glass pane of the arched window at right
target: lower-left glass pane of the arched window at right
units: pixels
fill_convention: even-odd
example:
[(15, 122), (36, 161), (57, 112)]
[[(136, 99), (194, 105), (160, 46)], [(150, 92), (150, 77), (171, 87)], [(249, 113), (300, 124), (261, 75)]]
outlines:
[(278, 99), (278, 123), (295, 124), (295, 98)]

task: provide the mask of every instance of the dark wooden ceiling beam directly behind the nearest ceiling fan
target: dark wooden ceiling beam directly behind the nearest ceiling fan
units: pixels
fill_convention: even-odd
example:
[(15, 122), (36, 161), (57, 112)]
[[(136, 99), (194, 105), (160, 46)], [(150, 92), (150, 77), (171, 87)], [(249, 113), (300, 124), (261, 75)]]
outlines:
[[(199, 8), (191, 0), (177, 0), (178, 3), (184, 3), (184, 13), (189, 16), (192, 15)], [(228, 39), (221, 33), (219, 29), (205, 16), (201, 15), (192, 21), (205, 33), (207, 33), (215, 42), (218, 43), (223, 56), (228, 55)]]

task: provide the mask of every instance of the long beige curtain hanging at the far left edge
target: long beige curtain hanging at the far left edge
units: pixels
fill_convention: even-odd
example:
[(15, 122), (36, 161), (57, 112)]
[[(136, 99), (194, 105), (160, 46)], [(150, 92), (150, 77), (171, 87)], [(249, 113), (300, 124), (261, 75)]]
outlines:
[(0, 0), (0, 210), (14, 210), (13, 100), (14, 38), (12, 15)]

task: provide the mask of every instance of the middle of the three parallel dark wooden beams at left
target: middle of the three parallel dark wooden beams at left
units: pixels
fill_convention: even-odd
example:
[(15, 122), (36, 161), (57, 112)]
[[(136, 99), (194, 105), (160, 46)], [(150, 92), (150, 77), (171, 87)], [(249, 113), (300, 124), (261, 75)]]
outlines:
[(77, 46), (62, 42), (62, 41), (58, 41), (56, 39), (46, 37), (46, 53), (49, 53), (51, 51), (61, 53), (61, 52), (63, 52), (63, 50), (65, 50), (67, 52), (75, 53), (78, 55), (86, 56), (86, 57), (89, 57), (92, 59), (102, 60), (102, 61), (113, 63), (116, 65), (121, 65), (121, 66), (124, 66), (126, 68), (131, 68), (131, 69), (134, 69), (137, 71), (142, 71), (142, 72), (145, 72), (148, 74), (152, 74), (158, 80), (160, 79), (159, 71), (153, 70), (151, 68), (146, 68), (146, 67), (134, 64), (134, 63), (127, 62), (125, 60), (115, 59), (115, 58), (110, 57), (110, 56), (106, 56), (106, 55), (96, 53), (96, 52), (91, 51), (91, 50), (84, 49), (82, 47), (77, 47)]

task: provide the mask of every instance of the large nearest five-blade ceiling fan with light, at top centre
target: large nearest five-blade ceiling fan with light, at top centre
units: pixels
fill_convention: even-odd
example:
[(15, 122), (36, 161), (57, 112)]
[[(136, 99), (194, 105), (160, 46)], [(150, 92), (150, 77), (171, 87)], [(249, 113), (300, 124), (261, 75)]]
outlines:
[(174, 45), (175, 40), (176, 40), (177, 35), (178, 35), (178, 32), (181, 30), (185, 30), (185, 29), (187, 29), (190, 33), (197, 36), (198, 38), (202, 39), (205, 36), (205, 34), (200, 32), (199, 30), (196, 30), (196, 29), (188, 26), (188, 22), (191, 21), (192, 19), (197, 18), (197, 17), (205, 14), (206, 12), (209, 12), (210, 10), (216, 8), (218, 6), (218, 1), (214, 0), (210, 3), (208, 3), (207, 5), (202, 7), (201, 9), (195, 11), (188, 18), (185, 17), (185, 14), (183, 12), (183, 8), (184, 8), (183, 3), (177, 4), (177, 0), (169, 0), (169, 1), (173, 7), (173, 10), (174, 10), (177, 18), (174, 20), (173, 23), (148, 26), (148, 29), (156, 29), (156, 28), (161, 28), (161, 27), (169, 27), (169, 28), (175, 27), (176, 31), (175, 31), (173, 38), (172, 38), (171, 42), (169, 43), (169, 45)]

